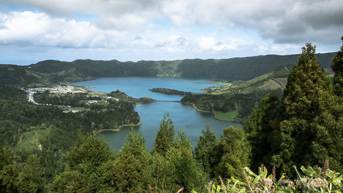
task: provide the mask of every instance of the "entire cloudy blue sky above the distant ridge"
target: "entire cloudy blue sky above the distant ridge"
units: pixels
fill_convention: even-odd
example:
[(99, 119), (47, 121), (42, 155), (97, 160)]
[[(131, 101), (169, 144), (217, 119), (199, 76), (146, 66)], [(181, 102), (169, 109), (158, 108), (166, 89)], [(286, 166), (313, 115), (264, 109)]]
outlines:
[(0, 63), (317, 53), (342, 45), (342, 0), (0, 0)]

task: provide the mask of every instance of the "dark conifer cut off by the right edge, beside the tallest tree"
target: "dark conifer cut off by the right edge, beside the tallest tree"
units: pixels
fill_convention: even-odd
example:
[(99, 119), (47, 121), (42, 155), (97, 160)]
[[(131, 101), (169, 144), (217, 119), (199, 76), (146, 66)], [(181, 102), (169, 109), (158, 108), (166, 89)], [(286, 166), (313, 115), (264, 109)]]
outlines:
[[(342, 36), (343, 41), (343, 36)], [(334, 84), (335, 84), (335, 93), (336, 95), (343, 96), (343, 45), (335, 57), (333, 58), (332, 70), (335, 72)]]

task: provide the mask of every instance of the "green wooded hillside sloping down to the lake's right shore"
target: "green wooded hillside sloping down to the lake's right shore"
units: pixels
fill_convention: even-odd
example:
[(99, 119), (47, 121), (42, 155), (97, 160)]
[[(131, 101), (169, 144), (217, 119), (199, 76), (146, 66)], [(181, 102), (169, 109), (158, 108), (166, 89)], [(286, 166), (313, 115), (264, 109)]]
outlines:
[(235, 120), (245, 120), (268, 93), (282, 96), (290, 69), (292, 65), (278, 67), (246, 82), (204, 89), (206, 93), (187, 93), (181, 102), (213, 113), (238, 111)]

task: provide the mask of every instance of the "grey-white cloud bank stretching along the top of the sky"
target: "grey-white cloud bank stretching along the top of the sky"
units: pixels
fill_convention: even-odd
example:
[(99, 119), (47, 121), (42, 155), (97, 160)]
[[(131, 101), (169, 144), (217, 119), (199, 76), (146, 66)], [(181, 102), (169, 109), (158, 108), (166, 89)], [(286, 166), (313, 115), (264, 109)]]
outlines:
[(94, 14), (104, 29), (137, 29), (154, 19), (176, 25), (217, 25), (257, 30), (276, 43), (337, 43), (343, 32), (342, 0), (2, 0), (73, 17)]

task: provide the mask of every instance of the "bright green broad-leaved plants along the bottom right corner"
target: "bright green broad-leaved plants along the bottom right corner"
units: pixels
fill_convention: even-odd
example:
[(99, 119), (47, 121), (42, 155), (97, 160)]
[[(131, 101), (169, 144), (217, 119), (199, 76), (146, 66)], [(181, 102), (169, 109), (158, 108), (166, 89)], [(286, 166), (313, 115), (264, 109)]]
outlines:
[[(325, 166), (324, 166), (325, 167)], [(226, 183), (220, 178), (219, 183), (209, 183), (209, 192), (341, 192), (343, 177), (338, 172), (330, 170), (328, 167), (324, 171), (314, 170), (309, 166), (300, 167), (302, 172), (298, 172), (296, 166), (293, 167), (297, 179), (285, 179), (283, 175), (276, 179), (275, 171), (268, 176), (268, 170), (263, 165), (259, 173), (255, 174), (249, 168), (244, 168), (245, 179), (239, 181), (234, 177), (228, 179)], [(303, 173), (303, 174), (302, 174)], [(192, 193), (197, 193), (192, 191)]]

